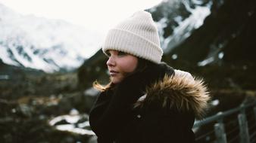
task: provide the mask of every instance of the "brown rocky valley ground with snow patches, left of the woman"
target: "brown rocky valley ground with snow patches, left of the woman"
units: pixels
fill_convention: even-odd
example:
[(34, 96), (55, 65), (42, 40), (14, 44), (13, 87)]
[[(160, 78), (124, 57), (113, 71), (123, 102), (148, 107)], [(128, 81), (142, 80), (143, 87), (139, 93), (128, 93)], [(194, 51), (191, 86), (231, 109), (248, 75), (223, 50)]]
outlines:
[(75, 71), (45, 74), (0, 61), (0, 141), (89, 142), (93, 92), (77, 89)]

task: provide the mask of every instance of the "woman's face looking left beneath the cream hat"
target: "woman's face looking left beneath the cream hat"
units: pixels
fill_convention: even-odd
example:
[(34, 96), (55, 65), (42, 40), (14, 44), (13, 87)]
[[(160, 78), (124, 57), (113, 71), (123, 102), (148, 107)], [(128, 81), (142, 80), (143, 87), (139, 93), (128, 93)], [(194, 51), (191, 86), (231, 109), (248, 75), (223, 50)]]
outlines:
[(108, 71), (113, 84), (123, 81), (123, 78), (135, 71), (138, 65), (138, 58), (129, 53), (118, 50), (108, 50), (106, 53), (108, 54)]

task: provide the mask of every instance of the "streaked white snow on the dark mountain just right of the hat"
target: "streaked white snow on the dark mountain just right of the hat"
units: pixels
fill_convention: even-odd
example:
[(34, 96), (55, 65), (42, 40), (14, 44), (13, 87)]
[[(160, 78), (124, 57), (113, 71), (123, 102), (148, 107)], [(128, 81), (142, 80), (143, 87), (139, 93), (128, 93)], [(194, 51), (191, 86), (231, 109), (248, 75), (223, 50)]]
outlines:
[[(165, 11), (164, 17), (158, 20), (157, 25), (161, 38), (161, 47), (164, 53), (169, 53), (174, 47), (186, 40), (192, 34), (193, 30), (198, 29), (203, 24), (204, 19), (211, 14), (211, 5), (211, 1), (205, 5), (198, 0), (169, 0), (163, 2), (162, 9)], [(184, 10), (180, 10), (180, 8), (184, 8)], [(189, 13), (189, 17), (183, 14), (184, 11)], [(174, 20), (177, 24), (170, 23), (170, 20)], [(164, 32), (166, 32), (164, 29), (168, 24), (173, 24), (170, 26), (173, 32), (167, 38), (164, 38)]]

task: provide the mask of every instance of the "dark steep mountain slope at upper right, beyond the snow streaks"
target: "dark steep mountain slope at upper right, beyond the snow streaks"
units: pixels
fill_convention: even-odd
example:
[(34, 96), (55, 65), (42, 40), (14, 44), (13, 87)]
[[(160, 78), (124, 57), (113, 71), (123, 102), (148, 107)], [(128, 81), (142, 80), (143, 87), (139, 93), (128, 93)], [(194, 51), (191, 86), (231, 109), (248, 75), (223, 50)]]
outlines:
[(168, 55), (204, 66), (214, 63), (255, 62), (256, 2), (213, 1), (212, 13)]

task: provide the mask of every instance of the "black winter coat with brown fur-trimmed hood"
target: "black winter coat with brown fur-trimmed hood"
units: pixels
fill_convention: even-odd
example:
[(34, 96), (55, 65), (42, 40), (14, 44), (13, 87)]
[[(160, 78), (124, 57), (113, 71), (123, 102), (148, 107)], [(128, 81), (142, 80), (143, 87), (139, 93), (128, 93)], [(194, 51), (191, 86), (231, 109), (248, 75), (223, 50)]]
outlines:
[(98, 143), (195, 142), (209, 96), (203, 81), (151, 65), (98, 96), (89, 114)]

